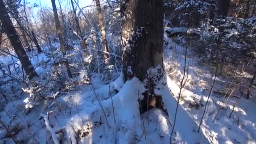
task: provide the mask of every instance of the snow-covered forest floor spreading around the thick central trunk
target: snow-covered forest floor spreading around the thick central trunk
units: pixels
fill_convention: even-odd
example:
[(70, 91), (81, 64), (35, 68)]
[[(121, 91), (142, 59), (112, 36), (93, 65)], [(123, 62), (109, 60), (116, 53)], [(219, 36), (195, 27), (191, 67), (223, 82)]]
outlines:
[[(164, 51), (168, 87), (162, 88), (161, 92), (163, 101), (168, 101), (165, 107), (170, 120), (159, 109), (151, 109), (140, 115), (138, 98), (141, 97), (139, 91), (143, 88), (136, 78), (124, 84), (122, 75), (118, 76), (120, 70), (111, 73), (111, 83), (102, 80), (98, 73), (93, 73), (90, 83), (85, 84), (81, 75), (86, 72), (80, 72), (81, 75), (77, 77), (80, 82), (74, 83), (75, 88), (71, 85), (72, 88), (51, 93), (46, 96), (51, 99), (35, 104), (30, 112), (26, 112), (24, 106), (24, 100), (29, 96), (21, 91), (21, 87), (26, 85), (4, 83), (9, 78), (1, 75), (0, 92), (3, 96), (0, 101), (0, 143), (58, 144), (70, 143), (70, 140), (73, 143), (80, 141), (85, 144), (169, 143), (176, 109), (175, 99), (178, 99), (183, 76), (185, 48), (167, 37), (165, 39), (168, 40)], [(47, 56), (43, 53), (30, 53), (30, 59), (39, 75), (48, 73), (48, 66), (41, 64), (48, 60)], [(17, 61), (13, 56), (0, 57), (0, 60), (7, 65)], [(226, 98), (219, 93), (211, 94), (201, 131), (197, 133), (214, 70), (202, 66), (191, 52), (188, 53), (187, 61), (187, 82), (181, 91), (181, 106), (178, 109), (172, 142), (255, 144), (256, 102), (253, 99), (237, 97), (239, 93), (236, 90), (232, 96)], [(74, 81), (67, 81), (72, 82)], [(231, 82), (232, 79), (218, 75), (213, 91), (221, 89), (226, 93), (225, 88)]]

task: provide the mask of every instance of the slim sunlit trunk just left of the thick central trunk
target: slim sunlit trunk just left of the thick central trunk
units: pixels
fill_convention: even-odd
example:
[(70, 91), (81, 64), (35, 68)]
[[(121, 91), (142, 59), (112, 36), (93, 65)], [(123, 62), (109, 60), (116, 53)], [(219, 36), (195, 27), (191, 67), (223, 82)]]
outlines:
[(104, 16), (101, 12), (101, 4), (99, 0), (95, 0), (96, 2), (96, 7), (97, 7), (97, 12), (98, 12), (98, 19), (99, 19), (99, 25), (100, 25), (100, 29), (101, 29), (101, 36), (102, 36), (102, 40), (103, 40), (103, 44), (104, 44), (104, 51), (109, 52), (109, 48), (107, 45), (107, 37), (106, 37), (106, 30), (105, 30), (105, 26), (104, 26)]

